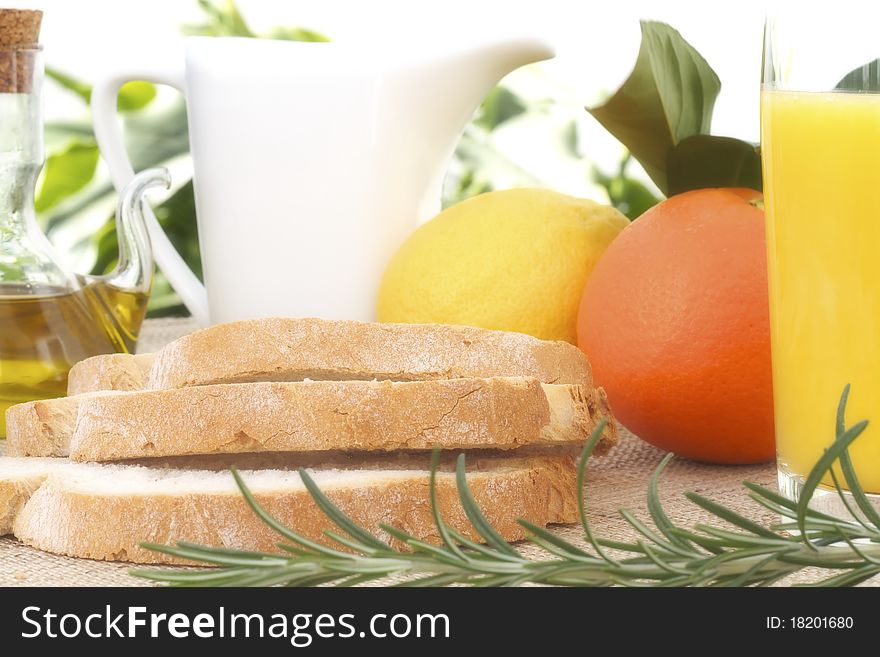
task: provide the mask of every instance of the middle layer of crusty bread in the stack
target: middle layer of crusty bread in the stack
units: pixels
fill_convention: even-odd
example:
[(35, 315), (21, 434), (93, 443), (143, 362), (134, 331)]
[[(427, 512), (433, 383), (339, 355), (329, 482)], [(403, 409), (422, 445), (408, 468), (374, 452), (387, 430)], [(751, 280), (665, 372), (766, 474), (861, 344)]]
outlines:
[[(604, 393), (524, 377), (305, 381), (91, 393), (7, 414), (8, 453), (112, 461), (189, 454), (582, 444)], [(610, 426), (599, 452), (616, 439)]]

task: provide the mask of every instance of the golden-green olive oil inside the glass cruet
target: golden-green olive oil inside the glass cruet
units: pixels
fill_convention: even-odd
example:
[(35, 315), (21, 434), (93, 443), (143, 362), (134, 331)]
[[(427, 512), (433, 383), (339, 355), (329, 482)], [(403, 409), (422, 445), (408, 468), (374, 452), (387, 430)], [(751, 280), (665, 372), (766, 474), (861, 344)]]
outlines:
[(78, 361), (133, 352), (147, 309), (146, 294), (105, 281), (74, 292), (32, 292), (0, 286), (0, 438), (7, 408), (64, 395), (67, 373)]

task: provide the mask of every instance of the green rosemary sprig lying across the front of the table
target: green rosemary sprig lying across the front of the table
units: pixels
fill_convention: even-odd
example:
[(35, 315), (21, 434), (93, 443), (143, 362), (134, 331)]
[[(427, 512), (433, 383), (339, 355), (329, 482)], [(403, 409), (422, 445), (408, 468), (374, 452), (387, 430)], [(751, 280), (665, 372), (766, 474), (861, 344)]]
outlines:
[[(628, 511), (621, 515), (640, 535), (633, 541), (596, 536), (587, 521), (583, 496), (586, 463), (599, 441), (605, 423), (593, 431), (584, 447), (578, 469), (580, 521), (588, 548), (579, 547), (525, 520), (527, 541), (540, 547), (546, 558), (520, 554), (501, 538), (480, 510), (465, 478), (465, 458), (456, 464), (459, 499), (475, 532), (475, 542), (449, 527), (440, 515), (435, 476), (438, 454), (431, 463), (431, 507), (441, 538), (439, 545), (418, 540), (395, 527), (381, 529), (405, 547), (398, 549), (358, 526), (333, 504), (305, 470), (300, 470), (309, 493), (336, 529), (325, 535), (338, 547), (313, 541), (275, 520), (254, 498), (240, 474), (233, 476), (248, 505), (284, 541), (284, 554), (210, 548), (191, 543), (175, 546), (144, 544), (164, 554), (214, 569), (140, 569), (133, 575), (172, 586), (353, 586), (390, 575), (407, 575), (396, 586), (515, 586), (526, 582), (560, 586), (765, 586), (804, 568), (835, 571), (809, 586), (852, 586), (880, 573), (880, 515), (871, 506), (858, 482), (848, 448), (864, 431), (866, 421), (845, 427), (849, 386), (838, 406), (836, 440), (810, 472), (799, 503), (763, 486), (744, 482), (748, 495), (779, 514), (783, 522), (765, 527), (696, 493), (687, 499), (714, 518), (731, 525), (676, 525), (663, 510), (658, 492), (660, 476), (672, 455), (657, 467), (648, 486), (651, 524)], [(858, 510), (853, 518), (820, 513), (808, 502), (820, 482), (831, 476), (838, 495), (851, 508), (833, 467), (843, 474)], [(860, 513), (859, 513), (860, 512)]]

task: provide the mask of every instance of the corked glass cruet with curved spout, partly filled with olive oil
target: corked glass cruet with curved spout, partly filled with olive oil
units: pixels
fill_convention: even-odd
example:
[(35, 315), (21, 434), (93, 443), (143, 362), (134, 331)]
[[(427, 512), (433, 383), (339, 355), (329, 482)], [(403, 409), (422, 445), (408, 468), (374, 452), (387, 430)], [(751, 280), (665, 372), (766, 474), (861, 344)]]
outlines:
[(0, 9), (0, 36), (14, 32), (0, 44), (0, 438), (9, 406), (63, 395), (70, 368), (84, 358), (134, 349), (153, 278), (143, 193), (167, 183), (167, 175), (149, 170), (123, 192), (113, 271), (89, 277), (66, 270), (34, 208), (44, 159), (41, 16)]

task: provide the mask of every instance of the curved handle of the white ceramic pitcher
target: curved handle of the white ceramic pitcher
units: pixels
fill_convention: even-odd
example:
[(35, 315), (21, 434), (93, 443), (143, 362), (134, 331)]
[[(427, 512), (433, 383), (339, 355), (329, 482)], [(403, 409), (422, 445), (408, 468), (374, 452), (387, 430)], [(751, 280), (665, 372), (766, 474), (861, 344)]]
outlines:
[[(186, 82), (182, 67), (124, 69), (107, 75), (95, 84), (92, 89), (92, 121), (95, 126), (95, 139), (98, 142), (101, 155), (110, 169), (113, 186), (120, 193), (134, 178), (134, 168), (125, 151), (125, 142), (116, 114), (116, 99), (122, 85), (132, 80), (165, 84), (174, 87), (184, 96), (186, 95)], [(144, 219), (153, 245), (156, 264), (159, 265), (168, 282), (180, 295), (181, 301), (189, 309), (193, 318), (202, 326), (207, 326), (209, 324), (208, 295), (205, 292), (205, 286), (171, 244), (171, 240), (162, 230), (153, 211), (149, 207), (144, 210)]]

